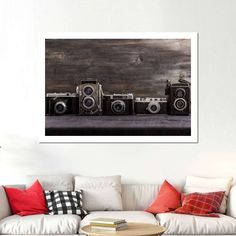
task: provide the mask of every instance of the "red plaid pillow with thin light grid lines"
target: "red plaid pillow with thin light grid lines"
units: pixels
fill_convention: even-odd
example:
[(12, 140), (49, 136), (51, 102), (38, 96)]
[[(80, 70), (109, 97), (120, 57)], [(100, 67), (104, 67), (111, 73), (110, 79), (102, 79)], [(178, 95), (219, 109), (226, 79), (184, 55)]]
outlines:
[(215, 212), (219, 211), (224, 194), (225, 192), (212, 192), (183, 195), (182, 207), (174, 213), (219, 217)]

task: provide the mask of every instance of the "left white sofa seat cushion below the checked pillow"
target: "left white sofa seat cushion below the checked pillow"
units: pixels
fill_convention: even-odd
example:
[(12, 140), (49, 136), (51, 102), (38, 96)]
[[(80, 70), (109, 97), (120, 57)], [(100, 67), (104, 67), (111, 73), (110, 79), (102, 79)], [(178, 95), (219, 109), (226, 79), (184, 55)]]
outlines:
[(0, 234), (76, 234), (78, 215), (12, 215), (0, 221)]

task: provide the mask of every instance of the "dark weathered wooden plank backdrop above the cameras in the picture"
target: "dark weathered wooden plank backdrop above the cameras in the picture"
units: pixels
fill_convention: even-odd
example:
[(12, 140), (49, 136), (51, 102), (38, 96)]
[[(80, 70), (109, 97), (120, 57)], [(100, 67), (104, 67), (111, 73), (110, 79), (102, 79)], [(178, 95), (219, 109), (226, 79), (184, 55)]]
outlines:
[(74, 92), (86, 78), (104, 93), (164, 97), (166, 80), (191, 81), (189, 39), (47, 39), (46, 92)]

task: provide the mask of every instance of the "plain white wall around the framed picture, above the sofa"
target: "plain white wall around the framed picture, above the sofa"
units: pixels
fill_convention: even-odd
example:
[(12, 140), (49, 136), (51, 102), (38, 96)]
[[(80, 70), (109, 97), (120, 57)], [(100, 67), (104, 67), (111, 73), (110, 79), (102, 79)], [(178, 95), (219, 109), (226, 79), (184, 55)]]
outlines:
[[(236, 179), (235, 0), (1, 0), (0, 184), (25, 174)], [(199, 32), (199, 144), (39, 144), (37, 34)]]

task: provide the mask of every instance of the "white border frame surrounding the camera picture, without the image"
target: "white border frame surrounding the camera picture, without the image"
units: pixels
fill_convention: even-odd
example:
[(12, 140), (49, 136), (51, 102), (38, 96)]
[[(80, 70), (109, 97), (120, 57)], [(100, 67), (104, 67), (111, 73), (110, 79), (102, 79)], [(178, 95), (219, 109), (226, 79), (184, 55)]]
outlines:
[[(46, 39), (190, 39), (191, 40), (191, 135), (188, 136), (47, 136), (45, 135), (45, 40)], [(198, 33), (41, 33), (39, 37), (41, 143), (198, 143)]]

